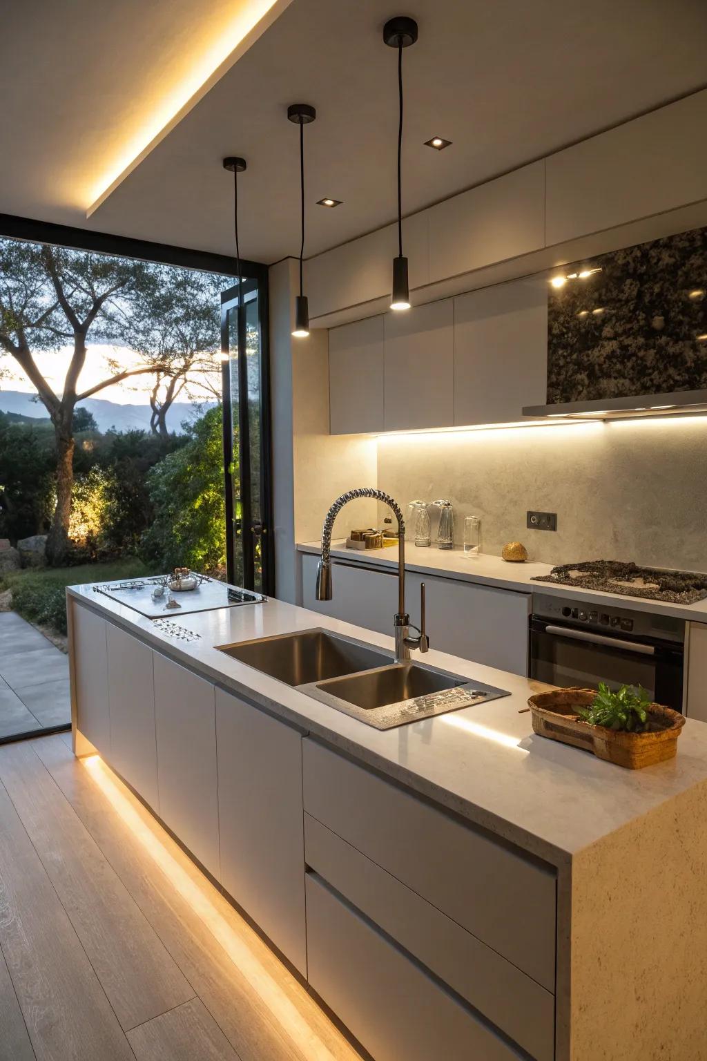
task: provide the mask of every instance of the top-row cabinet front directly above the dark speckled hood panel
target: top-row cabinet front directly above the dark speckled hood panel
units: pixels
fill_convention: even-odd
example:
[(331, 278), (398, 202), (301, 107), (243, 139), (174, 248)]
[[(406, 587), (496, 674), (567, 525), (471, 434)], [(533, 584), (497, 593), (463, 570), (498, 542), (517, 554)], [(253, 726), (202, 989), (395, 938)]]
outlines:
[(707, 89), (547, 161), (547, 244), (707, 197)]

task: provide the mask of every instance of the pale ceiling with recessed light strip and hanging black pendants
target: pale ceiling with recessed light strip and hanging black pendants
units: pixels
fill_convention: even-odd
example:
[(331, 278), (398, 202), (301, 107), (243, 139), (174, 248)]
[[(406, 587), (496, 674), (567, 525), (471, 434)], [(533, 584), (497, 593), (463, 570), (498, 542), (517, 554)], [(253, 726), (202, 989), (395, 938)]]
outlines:
[[(291, 0), (86, 219), (102, 131), (144, 111), (194, 12), (200, 27), (225, 2), (17, 5), (0, 51), (0, 211), (232, 254), (220, 160), (240, 154), (242, 255), (297, 255), (299, 142), (286, 107), (305, 102), (318, 111), (305, 129), (305, 256), (391, 221), (396, 56), (381, 33), (401, 13), (392, 0)], [(67, 17), (84, 4), (88, 31)], [(406, 213), (707, 84), (703, 0), (409, 0), (402, 13), (420, 23), (404, 55)], [(453, 146), (423, 146), (434, 135)], [(325, 195), (343, 205), (315, 206)]]

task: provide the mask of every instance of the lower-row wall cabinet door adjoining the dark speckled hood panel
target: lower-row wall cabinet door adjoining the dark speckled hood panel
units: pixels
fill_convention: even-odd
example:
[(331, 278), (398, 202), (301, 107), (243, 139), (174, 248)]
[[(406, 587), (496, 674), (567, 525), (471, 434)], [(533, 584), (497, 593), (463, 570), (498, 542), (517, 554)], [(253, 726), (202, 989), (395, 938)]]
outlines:
[[(545, 403), (547, 281), (533, 277), (454, 300), (454, 422), (511, 423)], [(532, 403), (528, 396), (532, 395)]]

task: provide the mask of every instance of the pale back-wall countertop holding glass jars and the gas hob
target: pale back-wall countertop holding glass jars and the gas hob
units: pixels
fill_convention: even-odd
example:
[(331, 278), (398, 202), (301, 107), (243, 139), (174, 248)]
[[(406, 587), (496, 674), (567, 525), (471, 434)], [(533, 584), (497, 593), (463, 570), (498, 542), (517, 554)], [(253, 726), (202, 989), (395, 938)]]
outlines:
[[(543, 532), (533, 532), (542, 534)], [(298, 544), (301, 553), (321, 553), (319, 542), (301, 542)], [(386, 549), (356, 550), (347, 549), (343, 539), (332, 542), (332, 556), (337, 559), (350, 560), (352, 563), (365, 563), (368, 567), (388, 570), (397, 568), (397, 550), (394, 546)], [(675, 619), (694, 620), (707, 623), (707, 597), (696, 604), (667, 604), (664, 601), (642, 599), (602, 593), (597, 590), (586, 590), (581, 587), (558, 586), (552, 582), (534, 582), (536, 575), (549, 575), (552, 564), (526, 560), (525, 563), (510, 563), (500, 556), (481, 553), (477, 557), (466, 558), (460, 549), (441, 550), (430, 545), (428, 549), (417, 549), (413, 542), (405, 543), (405, 570), (416, 571), (424, 575), (437, 575), (441, 578), (454, 578), (458, 581), (476, 582), (480, 586), (496, 586), (499, 589), (516, 590), (522, 593), (551, 593), (555, 596), (572, 596), (583, 601), (594, 601), (597, 605), (614, 605), (631, 608), (634, 611), (649, 611), (653, 614), (672, 615)]]

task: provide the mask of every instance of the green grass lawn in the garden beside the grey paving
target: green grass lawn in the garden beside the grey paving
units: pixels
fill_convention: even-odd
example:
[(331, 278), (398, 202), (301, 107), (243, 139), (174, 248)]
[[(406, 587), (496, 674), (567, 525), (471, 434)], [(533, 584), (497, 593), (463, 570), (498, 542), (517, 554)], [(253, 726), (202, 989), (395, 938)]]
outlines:
[(147, 568), (137, 557), (111, 563), (82, 563), (75, 568), (26, 568), (14, 571), (0, 581), (0, 591), (12, 591), (12, 609), (30, 623), (67, 632), (65, 590), (84, 582), (109, 582), (114, 578), (146, 575)]

